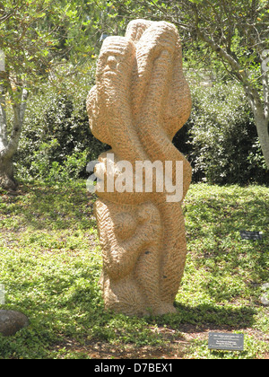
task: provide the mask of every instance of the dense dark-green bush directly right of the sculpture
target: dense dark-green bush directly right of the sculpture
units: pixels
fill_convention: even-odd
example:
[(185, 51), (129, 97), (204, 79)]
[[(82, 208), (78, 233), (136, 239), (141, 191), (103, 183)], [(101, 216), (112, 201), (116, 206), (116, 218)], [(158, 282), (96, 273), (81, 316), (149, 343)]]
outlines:
[(268, 182), (253, 115), (237, 83), (192, 89), (193, 109), (174, 138), (194, 168), (194, 180), (216, 184)]

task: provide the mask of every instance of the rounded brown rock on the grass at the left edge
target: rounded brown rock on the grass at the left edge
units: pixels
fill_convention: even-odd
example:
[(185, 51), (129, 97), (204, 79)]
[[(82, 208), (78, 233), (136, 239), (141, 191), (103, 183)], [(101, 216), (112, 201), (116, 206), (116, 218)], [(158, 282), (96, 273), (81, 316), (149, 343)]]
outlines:
[(0, 310), (0, 333), (4, 337), (14, 335), (28, 325), (28, 318), (21, 312)]

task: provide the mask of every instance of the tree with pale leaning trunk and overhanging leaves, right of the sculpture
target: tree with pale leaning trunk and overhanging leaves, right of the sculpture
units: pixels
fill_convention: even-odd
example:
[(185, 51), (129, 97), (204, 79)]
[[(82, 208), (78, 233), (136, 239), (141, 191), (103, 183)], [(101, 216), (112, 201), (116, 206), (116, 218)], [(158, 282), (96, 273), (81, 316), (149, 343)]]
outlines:
[[(117, 6), (121, 12), (124, 8), (131, 14), (129, 1), (116, 3), (120, 3)], [(243, 85), (269, 169), (268, 1), (137, 0), (133, 17), (137, 16), (173, 22), (187, 48), (202, 42), (221, 60), (229, 75)]]

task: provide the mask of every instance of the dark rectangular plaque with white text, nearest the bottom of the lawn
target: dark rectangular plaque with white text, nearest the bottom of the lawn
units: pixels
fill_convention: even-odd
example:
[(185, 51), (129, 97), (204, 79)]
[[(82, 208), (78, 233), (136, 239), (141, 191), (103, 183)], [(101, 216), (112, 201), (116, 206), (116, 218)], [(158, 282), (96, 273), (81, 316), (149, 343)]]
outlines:
[(244, 351), (244, 334), (210, 332), (208, 336), (208, 348)]

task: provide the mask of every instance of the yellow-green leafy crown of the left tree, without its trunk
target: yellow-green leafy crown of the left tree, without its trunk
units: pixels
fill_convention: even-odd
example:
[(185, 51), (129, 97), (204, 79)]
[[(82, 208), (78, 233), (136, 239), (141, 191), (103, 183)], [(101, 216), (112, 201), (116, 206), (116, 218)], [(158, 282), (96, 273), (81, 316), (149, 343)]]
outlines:
[[(18, 77), (26, 79), (31, 87), (59, 63), (78, 59), (82, 63), (82, 57), (89, 57), (93, 46), (89, 43), (92, 29), (88, 15), (93, 3), (7, 0), (1, 4), (0, 48), (8, 79), (16, 85), (22, 84)], [(96, 12), (95, 19), (97, 16)]]

